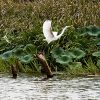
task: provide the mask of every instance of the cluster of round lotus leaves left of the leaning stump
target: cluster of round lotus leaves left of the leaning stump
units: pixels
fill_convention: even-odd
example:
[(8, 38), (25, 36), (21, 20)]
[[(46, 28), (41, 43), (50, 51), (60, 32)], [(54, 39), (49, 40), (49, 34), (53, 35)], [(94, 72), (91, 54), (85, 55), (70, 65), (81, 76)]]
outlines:
[(34, 46), (32, 44), (27, 44), (25, 47), (20, 45), (12, 50), (4, 52), (0, 57), (2, 60), (7, 60), (10, 63), (19, 60), (21, 63), (28, 64), (33, 61), (32, 51), (34, 52)]

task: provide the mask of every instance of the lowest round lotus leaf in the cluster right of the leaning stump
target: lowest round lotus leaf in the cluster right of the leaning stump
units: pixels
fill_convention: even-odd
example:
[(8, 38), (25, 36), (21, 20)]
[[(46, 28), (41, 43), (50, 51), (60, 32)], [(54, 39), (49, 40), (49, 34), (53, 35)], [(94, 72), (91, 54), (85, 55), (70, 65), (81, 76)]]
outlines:
[(72, 62), (72, 59), (67, 55), (62, 55), (61, 57), (56, 59), (56, 62), (60, 64), (68, 64), (69, 62)]

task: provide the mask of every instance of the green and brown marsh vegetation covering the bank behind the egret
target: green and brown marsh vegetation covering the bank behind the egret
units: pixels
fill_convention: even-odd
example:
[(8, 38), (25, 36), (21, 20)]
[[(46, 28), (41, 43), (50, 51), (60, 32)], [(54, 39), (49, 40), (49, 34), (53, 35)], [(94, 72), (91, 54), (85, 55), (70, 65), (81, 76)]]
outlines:
[(0, 72), (9, 72), (18, 61), (20, 72), (40, 73), (36, 54), (47, 44), (42, 25), (50, 19), (56, 31), (74, 26), (46, 48), (51, 69), (75, 76), (100, 74), (99, 0), (1, 0), (0, 8)]

